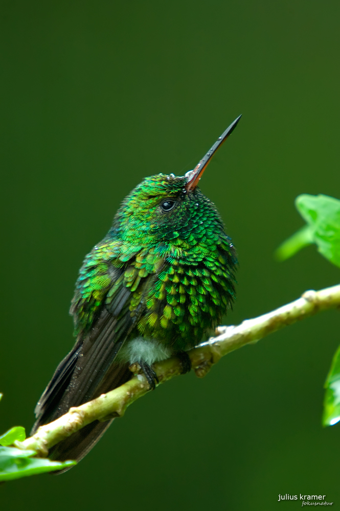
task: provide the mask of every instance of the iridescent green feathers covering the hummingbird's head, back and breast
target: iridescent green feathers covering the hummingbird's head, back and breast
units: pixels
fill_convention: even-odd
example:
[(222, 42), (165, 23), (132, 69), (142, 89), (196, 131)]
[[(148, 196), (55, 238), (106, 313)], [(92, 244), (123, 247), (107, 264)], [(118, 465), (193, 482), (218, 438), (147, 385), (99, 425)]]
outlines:
[[(235, 255), (214, 204), (198, 188), (187, 193), (186, 181), (151, 176), (124, 200), (80, 270), (71, 309), (78, 335), (122, 287), (131, 292), (130, 313), (140, 308), (129, 338), (187, 350), (218, 324), (234, 296)], [(160, 204), (169, 198), (176, 204), (163, 212)], [(111, 267), (122, 270), (117, 280)]]

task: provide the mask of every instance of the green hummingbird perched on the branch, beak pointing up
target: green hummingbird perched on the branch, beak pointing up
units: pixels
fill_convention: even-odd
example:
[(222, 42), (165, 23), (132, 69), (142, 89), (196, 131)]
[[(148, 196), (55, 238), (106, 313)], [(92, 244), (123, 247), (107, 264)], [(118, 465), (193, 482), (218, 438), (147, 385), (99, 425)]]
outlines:
[[(123, 200), (105, 238), (85, 257), (70, 313), (76, 343), (36, 408), (31, 434), (132, 376), (138, 363), (150, 389), (154, 362), (180, 357), (215, 328), (232, 305), (236, 252), (198, 181), (241, 115), (185, 176), (146, 177)], [(112, 420), (94, 421), (50, 452), (82, 459)]]

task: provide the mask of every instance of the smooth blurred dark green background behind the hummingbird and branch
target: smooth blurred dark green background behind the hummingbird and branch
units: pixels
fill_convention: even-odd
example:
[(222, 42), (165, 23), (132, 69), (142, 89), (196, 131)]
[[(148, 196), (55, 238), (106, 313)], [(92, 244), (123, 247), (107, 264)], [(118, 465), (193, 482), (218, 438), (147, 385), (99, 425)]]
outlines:
[[(0, 430), (33, 409), (73, 345), (82, 259), (144, 176), (183, 175), (240, 113), (201, 180), (238, 249), (236, 324), (339, 281), (301, 193), (340, 198), (335, 0), (2, 2)], [(73, 470), (0, 487), (3, 509), (340, 508), (340, 426), (321, 427), (335, 311), (230, 354), (135, 403)]]

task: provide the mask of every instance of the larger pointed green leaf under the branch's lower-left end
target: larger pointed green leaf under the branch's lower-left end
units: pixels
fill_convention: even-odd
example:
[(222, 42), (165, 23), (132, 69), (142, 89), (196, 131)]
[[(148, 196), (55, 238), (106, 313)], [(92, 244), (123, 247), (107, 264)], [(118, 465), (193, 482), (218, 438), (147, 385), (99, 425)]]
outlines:
[(76, 464), (76, 461), (60, 462), (46, 458), (32, 458), (35, 454), (35, 451), (0, 447), (0, 481), (61, 470)]

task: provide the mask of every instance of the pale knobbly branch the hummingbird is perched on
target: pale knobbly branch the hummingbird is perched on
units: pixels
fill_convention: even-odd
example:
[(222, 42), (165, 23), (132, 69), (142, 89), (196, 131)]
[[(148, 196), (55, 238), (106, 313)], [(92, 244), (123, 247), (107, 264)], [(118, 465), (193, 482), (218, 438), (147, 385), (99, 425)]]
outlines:
[[(202, 378), (211, 366), (227, 353), (245, 344), (257, 342), (296, 321), (323, 310), (336, 308), (340, 308), (340, 285), (321, 291), (306, 291), (301, 298), (290, 304), (257, 318), (246, 319), (237, 327), (218, 327), (217, 337), (210, 338), (188, 352), (192, 368), (196, 376)], [(135, 369), (138, 371), (138, 364), (135, 364)], [(160, 383), (181, 373), (180, 361), (175, 357), (154, 364), (154, 369)], [(19, 449), (33, 449), (41, 457), (48, 456), (51, 447), (87, 424), (124, 415), (126, 408), (144, 396), (148, 388), (144, 375), (137, 374), (121, 387), (81, 406), (70, 408), (68, 413), (50, 424), (41, 426), (35, 435), (24, 442), (15, 442), (15, 446)]]

